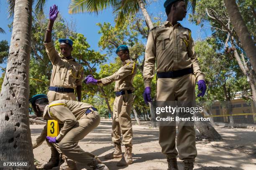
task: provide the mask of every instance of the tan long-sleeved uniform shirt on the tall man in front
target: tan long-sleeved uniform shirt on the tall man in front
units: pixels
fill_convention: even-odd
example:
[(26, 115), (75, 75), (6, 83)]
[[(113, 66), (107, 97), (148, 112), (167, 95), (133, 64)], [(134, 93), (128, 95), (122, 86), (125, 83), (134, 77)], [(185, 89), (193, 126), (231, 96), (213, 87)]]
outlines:
[(205, 80), (194, 46), (190, 30), (182, 28), (180, 23), (173, 26), (166, 21), (164, 25), (150, 30), (143, 68), (145, 87), (150, 87), (155, 62), (156, 72), (169, 72), (192, 66), (197, 81)]

